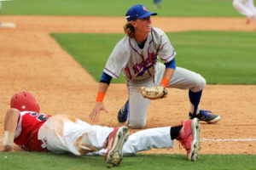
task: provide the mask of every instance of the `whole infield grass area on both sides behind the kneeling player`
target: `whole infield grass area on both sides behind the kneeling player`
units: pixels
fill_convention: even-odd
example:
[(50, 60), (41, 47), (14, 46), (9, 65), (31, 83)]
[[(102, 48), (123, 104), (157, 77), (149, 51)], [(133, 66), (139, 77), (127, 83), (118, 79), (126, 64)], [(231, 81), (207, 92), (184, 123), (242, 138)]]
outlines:
[[(51, 34), (98, 82), (114, 45), (124, 34)], [(167, 33), (177, 66), (200, 73), (209, 84), (256, 84), (256, 33)], [(125, 82), (120, 77), (113, 82)]]

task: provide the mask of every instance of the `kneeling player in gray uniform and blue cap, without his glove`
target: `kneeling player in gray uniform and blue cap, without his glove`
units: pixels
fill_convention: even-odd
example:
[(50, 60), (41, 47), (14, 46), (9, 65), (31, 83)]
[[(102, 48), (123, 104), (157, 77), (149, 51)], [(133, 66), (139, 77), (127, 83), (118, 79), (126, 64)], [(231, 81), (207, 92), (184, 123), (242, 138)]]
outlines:
[(113, 48), (103, 69), (96, 105), (90, 113), (90, 119), (98, 120), (100, 111), (107, 111), (102, 102), (104, 95), (112, 78), (118, 78), (122, 72), (126, 78), (129, 99), (120, 109), (118, 120), (128, 120), (128, 127), (142, 128), (147, 122), (150, 99), (143, 98), (139, 92), (140, 87), (189, 89), (189, 117), (197, 117), (205, 122), (218, 122), (220, 116), (200, 109), (206, 80), (193, 71), (176, 67), (176, 51), (166, 33), (151, 26), (151, 15), (156, 13), (150, 13), (142, 4), (132, 6), (125, 14), (126, 36)]

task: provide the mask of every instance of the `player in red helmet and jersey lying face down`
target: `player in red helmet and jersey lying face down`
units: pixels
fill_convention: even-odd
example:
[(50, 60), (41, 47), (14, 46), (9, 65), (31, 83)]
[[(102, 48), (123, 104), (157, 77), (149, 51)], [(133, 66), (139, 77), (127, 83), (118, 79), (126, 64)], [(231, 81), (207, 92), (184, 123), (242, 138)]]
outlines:
[(172, 148), (174, 139), (183, 144), (189, 161), (195, 161), (201, 149), (196, 118), (178, 126), (150, 128), (129, 138), (128, 135), (127, 127), (102, 127), (73, 116), (42, 114), (32, 94), (20, 92), (12, 97), (5, 116), (3, 150), (12, 150), (15, 142), (28, 151), (104, 155), (105, 164), (111, 167), (119, 165), (123, 155), (132, 156), (153, 147)]

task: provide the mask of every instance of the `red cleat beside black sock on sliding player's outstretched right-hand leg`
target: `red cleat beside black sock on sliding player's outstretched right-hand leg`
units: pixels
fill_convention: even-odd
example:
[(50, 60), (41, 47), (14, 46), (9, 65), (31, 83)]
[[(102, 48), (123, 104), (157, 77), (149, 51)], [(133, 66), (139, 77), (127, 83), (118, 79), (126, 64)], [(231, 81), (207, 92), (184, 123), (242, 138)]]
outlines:
[(198, 118), (183, 122), (177, 140), (187, 150), (187, 159), (195, 161), (199, 157), (200, 146), (200, 123)]

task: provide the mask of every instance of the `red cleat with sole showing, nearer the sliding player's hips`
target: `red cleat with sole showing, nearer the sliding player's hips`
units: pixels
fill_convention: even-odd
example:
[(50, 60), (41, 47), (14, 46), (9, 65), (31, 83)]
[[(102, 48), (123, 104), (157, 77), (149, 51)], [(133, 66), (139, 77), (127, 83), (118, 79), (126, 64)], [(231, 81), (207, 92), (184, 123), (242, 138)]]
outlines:
[(127, 127), (115, 127), (108, 137), (108, 148), (105, 156), (107, 167), (118, 166), (123, 160), (123, 145), (129, 137)]

